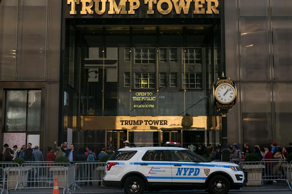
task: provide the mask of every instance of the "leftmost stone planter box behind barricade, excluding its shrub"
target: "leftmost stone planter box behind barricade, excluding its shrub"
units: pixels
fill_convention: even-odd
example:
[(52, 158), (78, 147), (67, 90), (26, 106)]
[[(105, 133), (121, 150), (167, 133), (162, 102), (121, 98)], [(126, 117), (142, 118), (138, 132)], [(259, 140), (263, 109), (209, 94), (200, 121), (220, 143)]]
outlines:
[[(16, 188), (17, 187), (26, 187), (28, 174), (31, 171), (31, 168), (9, 168), (6, 167), (4, 169), (5, 175), (7, 175), (8, 188)], [(18, 185), (17, 185), (18, 182)]]

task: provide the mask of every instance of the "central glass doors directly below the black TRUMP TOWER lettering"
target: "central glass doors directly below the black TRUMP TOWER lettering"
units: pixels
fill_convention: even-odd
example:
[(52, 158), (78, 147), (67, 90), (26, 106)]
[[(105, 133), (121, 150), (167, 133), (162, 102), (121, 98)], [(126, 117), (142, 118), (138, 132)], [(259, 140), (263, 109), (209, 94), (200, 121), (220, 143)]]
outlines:
[(157, 147), (159, 130), (130, 130), (129, 142), (134, 147)]

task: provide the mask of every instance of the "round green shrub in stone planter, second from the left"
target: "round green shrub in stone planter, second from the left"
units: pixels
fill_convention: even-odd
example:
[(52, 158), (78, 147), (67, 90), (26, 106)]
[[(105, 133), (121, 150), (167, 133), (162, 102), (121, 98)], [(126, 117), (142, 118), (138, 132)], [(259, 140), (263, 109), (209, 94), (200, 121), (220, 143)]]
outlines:
[[(54, 163), (62, 163), (61, 164), (54, 164)], [(68, 163), (70, 163), (68, 157), (65, 156), (58, 156), (54, 163), (48, 164), (48, 166), (54, 166), (53, 168), (49, 168), (49, 178), (53, 180), (53, 178), (57, 177), (59, 187), (66, 187), (67, 186), (67, 169), (68, 169)], [(56, 167), (58, 166), (58, 167)], [(50, 180), (50, 181), (52, 181)]]

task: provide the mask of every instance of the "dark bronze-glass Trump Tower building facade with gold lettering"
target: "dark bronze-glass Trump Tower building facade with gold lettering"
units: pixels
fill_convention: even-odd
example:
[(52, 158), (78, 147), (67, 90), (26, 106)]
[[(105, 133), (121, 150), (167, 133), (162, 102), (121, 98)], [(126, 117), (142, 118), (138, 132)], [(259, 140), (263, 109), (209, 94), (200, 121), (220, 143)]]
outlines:
[(199, 152), (221, 142), (210, 94), (224, 72), (229, 144), (285, 146), (291, 13), (289, 0), (2, 0), (1, 141)]

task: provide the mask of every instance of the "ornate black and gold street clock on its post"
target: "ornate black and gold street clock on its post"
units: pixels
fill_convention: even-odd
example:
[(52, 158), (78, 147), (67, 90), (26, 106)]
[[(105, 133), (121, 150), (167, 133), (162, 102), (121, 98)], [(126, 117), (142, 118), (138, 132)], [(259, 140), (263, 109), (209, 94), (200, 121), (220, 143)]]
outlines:
[(222, 116), (222, 144), (221, 144), (221, 161), (230, 162), (230, 150), (227, 138), (227, 114), (228, 111), (235, 105), (236, 102), (236, 87), (235, 84), (222, 72), (220, 79), (212, 85), (211, 101), (217, 111)]

